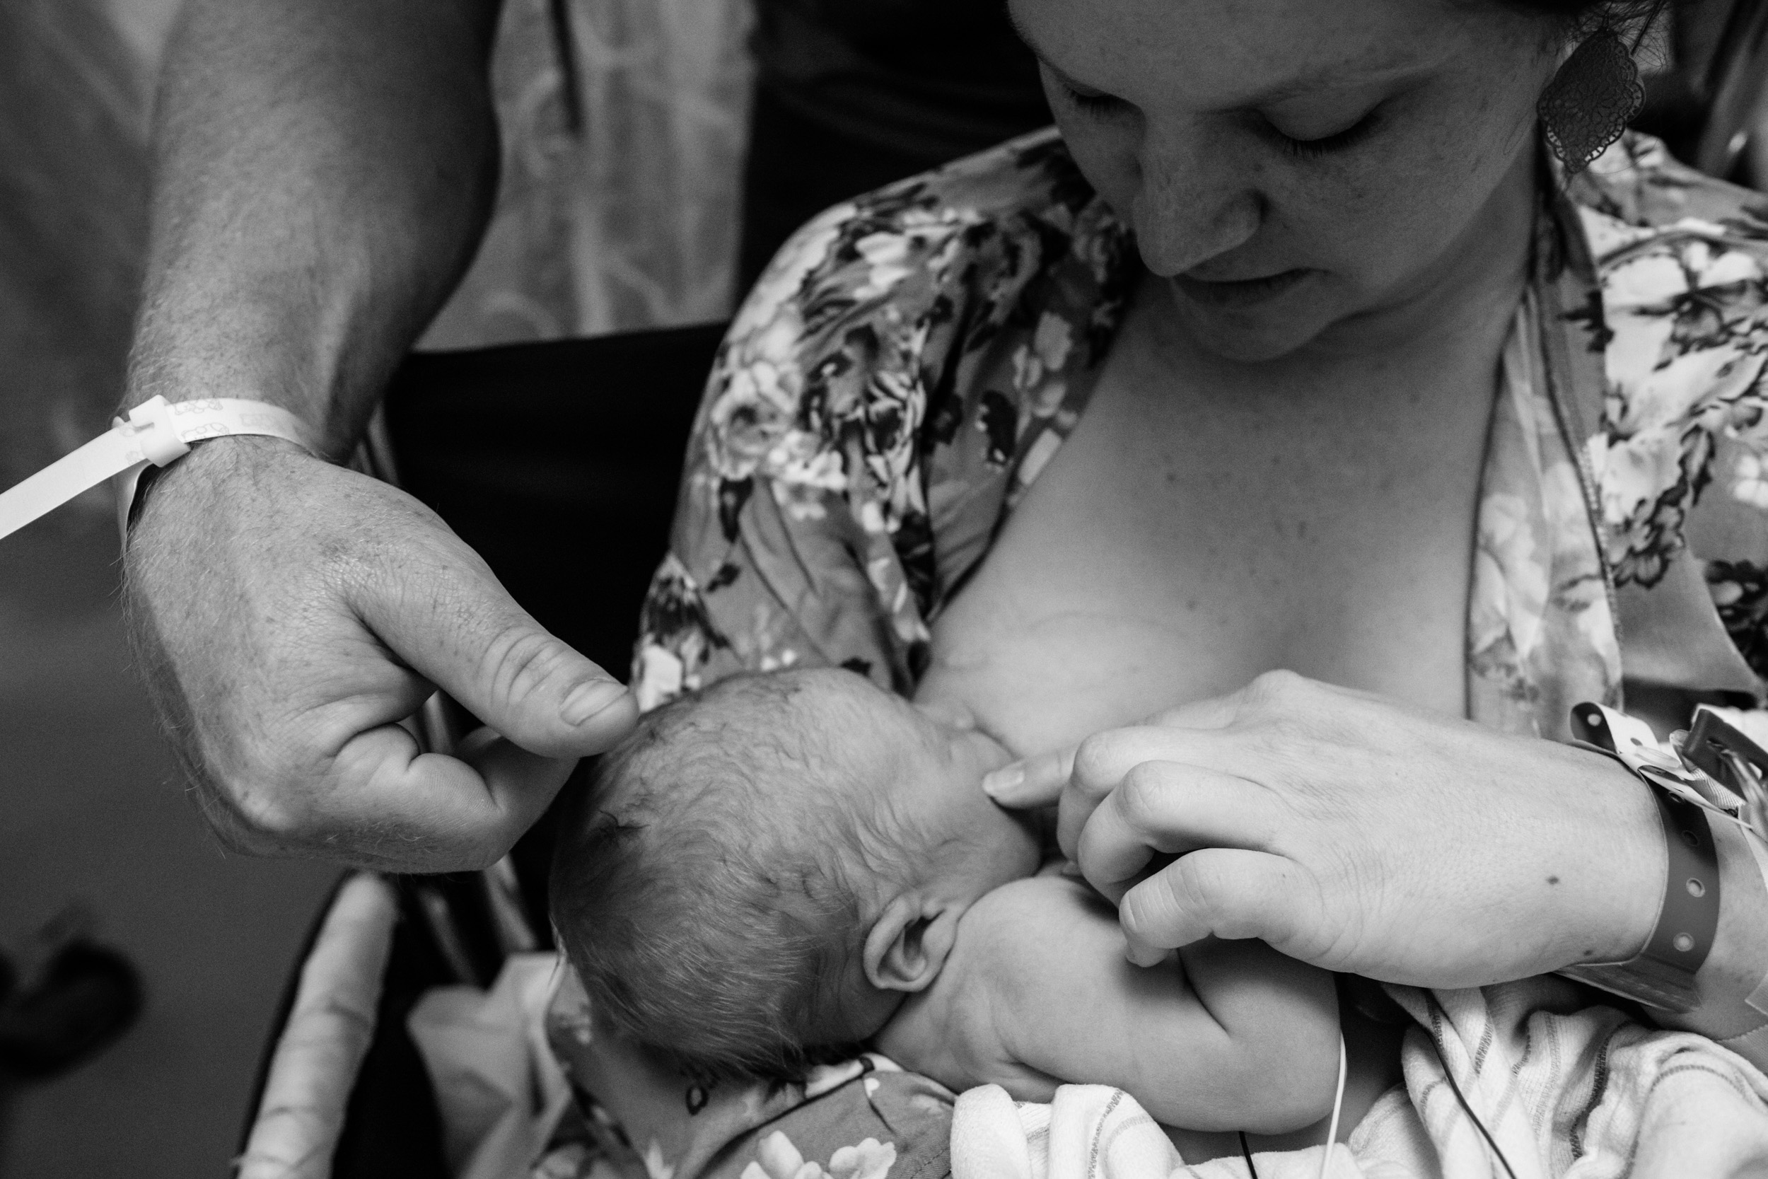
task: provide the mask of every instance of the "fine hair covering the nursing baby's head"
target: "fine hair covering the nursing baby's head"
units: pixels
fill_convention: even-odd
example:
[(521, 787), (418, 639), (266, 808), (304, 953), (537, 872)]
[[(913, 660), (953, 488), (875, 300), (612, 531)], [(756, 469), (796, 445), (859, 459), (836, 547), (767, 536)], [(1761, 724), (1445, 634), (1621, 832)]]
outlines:
[(865, 942), (843, 859), (875, 859), (868, 817), (829, 781), (863, 771), (803, 677), (647, 714), (560, 822), (553, 924), (591, 1008), (698, 1078), (799, 1075)]

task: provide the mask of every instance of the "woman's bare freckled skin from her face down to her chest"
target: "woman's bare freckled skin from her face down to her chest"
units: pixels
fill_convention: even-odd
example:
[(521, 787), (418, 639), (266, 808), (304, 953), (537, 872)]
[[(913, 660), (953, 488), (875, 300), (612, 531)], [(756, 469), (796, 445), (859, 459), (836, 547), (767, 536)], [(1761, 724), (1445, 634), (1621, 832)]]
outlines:
[[(926, 684), (1015, 753), (1275, 668), (1460, 714), (1543, 25), (1448, 0), (1010, 11), (1151, 278), (1086, 415), (935, 620)], [(1285, 147), (1360, 122), (1344, 150)], [(1291, 270), (1255, 304), (1183, 286)]]

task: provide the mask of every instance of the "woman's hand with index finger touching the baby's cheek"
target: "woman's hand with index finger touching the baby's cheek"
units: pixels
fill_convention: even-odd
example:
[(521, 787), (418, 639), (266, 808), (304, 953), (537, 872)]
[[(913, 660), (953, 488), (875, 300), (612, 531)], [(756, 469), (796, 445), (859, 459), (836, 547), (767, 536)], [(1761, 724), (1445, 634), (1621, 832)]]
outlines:
[(1658, 818), (1623, 767), (1287, 672), (987, 787), (1061, 801), (1063, 850), (1144, 965), (1213, 933), (1473, 986), (1634, 956), (1664, 889)]

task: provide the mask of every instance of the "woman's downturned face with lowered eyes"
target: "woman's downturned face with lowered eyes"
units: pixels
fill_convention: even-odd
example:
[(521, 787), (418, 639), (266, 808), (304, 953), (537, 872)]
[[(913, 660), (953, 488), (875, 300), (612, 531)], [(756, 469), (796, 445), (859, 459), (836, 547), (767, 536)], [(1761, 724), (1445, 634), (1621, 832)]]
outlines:
[(1010, 11), (1080, 170), (1220, 355), (1280, 357), (1520, 265), (1558, 62), (1538, 18), (1482, 0)]

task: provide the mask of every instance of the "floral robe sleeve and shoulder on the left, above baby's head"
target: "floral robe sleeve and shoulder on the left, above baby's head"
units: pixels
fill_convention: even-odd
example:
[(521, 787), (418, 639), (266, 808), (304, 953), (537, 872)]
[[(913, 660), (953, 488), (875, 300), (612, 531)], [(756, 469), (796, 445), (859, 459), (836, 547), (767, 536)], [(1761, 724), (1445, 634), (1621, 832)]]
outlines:
[(714, 362), (640, 707), (796, 663), (909, 691), (928, 620), (1078, 419), (1135, 276), (1050, 133), (804, 226)]

